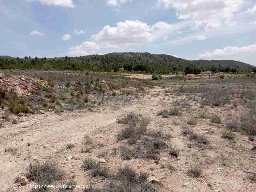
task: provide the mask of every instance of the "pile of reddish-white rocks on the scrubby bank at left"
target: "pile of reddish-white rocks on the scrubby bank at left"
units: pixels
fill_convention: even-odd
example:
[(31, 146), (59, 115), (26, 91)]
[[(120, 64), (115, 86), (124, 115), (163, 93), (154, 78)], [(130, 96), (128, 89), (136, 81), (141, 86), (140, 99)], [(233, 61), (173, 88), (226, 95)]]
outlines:
[(6, 76), (0, 77), (0, 88), (7, 93), (13, 93), (16, 96), (31, 96), (35, 90), (38, 90), (36, 83), (39, 82), (48, 85), (47, 81), (29, 76)]

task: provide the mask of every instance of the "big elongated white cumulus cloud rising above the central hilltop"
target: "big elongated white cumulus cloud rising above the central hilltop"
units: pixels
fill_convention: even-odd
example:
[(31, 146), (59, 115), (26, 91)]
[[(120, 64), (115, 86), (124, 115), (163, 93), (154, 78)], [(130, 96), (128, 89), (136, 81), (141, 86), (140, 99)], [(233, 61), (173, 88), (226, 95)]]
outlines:
[[(165, 22), (148, 25), (141, 21), (126, 20), (116, 26), (105, 26), (100, 32), (92, 35), (92, 42), (72, 47), (71, 55), (95, 54), (101, 49), (120, 49), (131, 45), (141, 45), (157, 39), (166, 39), (173, 26)], [(90, 45), (90, 46), (89, 46)], [(82, 53), (82, 54), (81, 54)]]

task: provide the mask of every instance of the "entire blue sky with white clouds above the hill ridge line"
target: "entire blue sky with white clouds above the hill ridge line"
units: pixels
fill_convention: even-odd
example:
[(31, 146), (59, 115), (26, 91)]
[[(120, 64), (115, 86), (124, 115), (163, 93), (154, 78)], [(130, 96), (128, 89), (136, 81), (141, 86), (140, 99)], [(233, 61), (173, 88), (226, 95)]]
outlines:
[(0, 0), (0, 55), (128, 51), (256, 65), (256, 0)]

